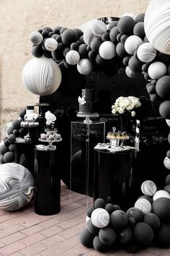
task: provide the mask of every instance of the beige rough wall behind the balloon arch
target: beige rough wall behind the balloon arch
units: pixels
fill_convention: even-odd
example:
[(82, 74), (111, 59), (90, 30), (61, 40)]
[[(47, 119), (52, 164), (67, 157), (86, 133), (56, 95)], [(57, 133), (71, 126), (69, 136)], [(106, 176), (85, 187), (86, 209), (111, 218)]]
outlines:
[[(30, 33), (44, 26), (76, 28), (99, 17), (146, 12), (149, 0), (0, 0), (0, 131), (28, 104), (38, 102), (22, 82), (32, 59)], [(1, 136), (1, 134), (0, 134)]]

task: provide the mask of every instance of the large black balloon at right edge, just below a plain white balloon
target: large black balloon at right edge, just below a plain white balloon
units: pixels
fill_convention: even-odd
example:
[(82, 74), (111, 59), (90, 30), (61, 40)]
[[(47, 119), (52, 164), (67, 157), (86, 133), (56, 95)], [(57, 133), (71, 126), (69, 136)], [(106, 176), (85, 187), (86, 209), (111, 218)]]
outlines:
[(156, 93), (161, 98), (169, 98), (170, 97), (170, 76), (166, 75), (164, 77), (159, 78), (156, 82)]

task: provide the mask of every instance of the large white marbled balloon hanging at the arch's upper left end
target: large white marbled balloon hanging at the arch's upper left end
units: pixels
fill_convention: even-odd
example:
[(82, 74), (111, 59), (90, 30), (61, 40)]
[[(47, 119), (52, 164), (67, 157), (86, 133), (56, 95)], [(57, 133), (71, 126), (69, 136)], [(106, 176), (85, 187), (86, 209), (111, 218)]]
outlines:
[(22, 80), (30, 92), (37, 95), (50, 95), (61, 84), (61, 69), (53, 59), (44, 56), (33, 58), (25, 64)]

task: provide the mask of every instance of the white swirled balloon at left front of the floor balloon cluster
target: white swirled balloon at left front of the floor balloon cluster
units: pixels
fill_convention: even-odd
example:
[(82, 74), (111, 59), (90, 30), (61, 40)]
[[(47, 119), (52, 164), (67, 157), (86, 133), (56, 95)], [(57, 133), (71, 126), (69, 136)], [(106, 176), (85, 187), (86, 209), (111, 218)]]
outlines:
[(102, 229), (109, 224), (109, 213), (103, 208), (97, 208), (91, 213), (91, 222)]

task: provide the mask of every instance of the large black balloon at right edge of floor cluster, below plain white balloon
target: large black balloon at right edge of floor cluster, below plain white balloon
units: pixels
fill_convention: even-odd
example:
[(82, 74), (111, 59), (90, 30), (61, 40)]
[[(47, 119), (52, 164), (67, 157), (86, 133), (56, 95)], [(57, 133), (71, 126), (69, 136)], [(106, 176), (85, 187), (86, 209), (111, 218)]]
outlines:
[(152, 204), (152, 212), (155, 213), (160, 221), (170, 221), (170, 199), (167, 197), (160, 197)]

